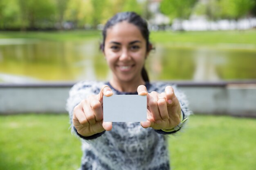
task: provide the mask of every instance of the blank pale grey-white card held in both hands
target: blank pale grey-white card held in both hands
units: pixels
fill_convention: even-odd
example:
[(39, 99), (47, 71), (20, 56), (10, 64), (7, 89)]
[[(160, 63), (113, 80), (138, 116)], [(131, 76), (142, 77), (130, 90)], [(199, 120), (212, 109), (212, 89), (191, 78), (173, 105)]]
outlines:
[(147, 96), (103, 96), (103, 121), (140, 122), (147, 120)]

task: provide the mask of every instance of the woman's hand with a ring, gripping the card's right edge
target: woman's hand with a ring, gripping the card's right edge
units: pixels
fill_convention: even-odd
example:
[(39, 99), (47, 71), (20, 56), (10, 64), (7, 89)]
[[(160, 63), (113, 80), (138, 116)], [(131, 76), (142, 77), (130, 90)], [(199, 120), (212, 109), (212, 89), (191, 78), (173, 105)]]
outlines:
[(180, 123), (180, 102), (171, 86), (165, 87), (165, 92), (148, 93), (144, 85), (137, 88), (139, 95), (147, 95), (147, 121), (141, 122), (143, 128), (155, 130), (170, 130)]

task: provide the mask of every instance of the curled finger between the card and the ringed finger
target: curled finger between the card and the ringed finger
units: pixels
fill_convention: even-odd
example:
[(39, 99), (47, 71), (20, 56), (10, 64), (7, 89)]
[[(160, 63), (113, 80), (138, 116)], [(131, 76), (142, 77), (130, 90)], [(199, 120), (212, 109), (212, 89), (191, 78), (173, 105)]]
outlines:
[(150, 108), (150, 112), (153, 115), (155, 123), (159, 124), (159, 123), (162, 123), (162, 117), (160, 116), (157, 100), (158, 100), (158, 93), (151, 92), (149, 94), (148, 106)]

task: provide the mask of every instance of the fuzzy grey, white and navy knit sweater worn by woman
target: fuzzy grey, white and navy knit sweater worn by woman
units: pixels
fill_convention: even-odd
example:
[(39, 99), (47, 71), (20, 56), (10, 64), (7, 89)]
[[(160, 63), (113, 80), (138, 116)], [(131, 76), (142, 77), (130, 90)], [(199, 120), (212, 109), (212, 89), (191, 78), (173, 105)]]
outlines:
[[(144, 129), (139, 122), (113, 122), (111, 131), (104, 131), (90, 137), (79, 135), (72, 124), (73, 109), (91, 94), (98, 94), (104, 82), (83, 81), (70, 90), (67, 99), (67, 111), (70, 115), (72, 132), (80, 136), (83, 157), (83, 170), (169, 170), (169, 155), (166, 134), (162, 130)], [(148, 92), (164, 92), (167, 83), (146, 83)], [(111, 87), (111, 86), (110, 86)], [(174, 88), (180, 101), (184, 117), (190, 111), (184, 94)], [(114, 94), (136, 94), (118, 92)]]

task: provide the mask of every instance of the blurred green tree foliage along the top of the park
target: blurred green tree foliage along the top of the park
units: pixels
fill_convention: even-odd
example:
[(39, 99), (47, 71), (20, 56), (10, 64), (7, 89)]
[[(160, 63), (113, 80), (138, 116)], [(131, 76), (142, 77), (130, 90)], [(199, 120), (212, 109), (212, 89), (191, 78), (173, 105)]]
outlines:
[[(0, 29), (96, 28), (117, 12), (135, 11), (149, 20), (150, 0), (0, 0)], [(204, 3), (202, 3), (204, 2)], [(162, 0), (159, 10), (171, 20), (192, 12), (210, 20), (256, 15), (256, 0)]]

